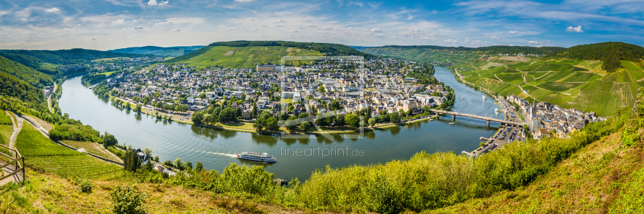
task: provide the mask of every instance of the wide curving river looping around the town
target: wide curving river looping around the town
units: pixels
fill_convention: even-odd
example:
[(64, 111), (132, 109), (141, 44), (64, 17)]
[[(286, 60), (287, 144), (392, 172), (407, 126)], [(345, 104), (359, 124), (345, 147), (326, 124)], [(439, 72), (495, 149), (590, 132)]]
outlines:
[[(455, 90), (455, 111), (495, 116), (495, 100), (482, 100), (486, 94), (457, 82), (449, 69), (436, 67), (435, 77)], [(462, 99), (461, 99), (462, 98)], [(275, 177), (305, 181), (316, 169), (351, 165), (386, 163), (409, 159), (416, 152), (471, 151), (478, 147), (480, 137), (489, 137), (498, 130), (499, 123), (473, 118), (440, 116), (438, 120), (422, 121), (401, 127), (366, 132), (362, 139), (343, 139), (334, 134), (334, 140), (323, 136), (308, 139), (282, 139), (277, 135), (254, 134), (229, 130), (214, 130), (173, 121), (156, 120), (146, 114), (120, 109), (111, 102), (95, 96), (83, 87), (81, 77), (70, 78), (62, 84), (59, 102), (62, 112), (71, 118), (91, 125), (101, 133), (108, 131), (121, 144), (133, 148), (150, 148), (160, 161), (181, 158), (193, 163), (202, 162), (209, 169), (222, 171), (230, 163), (264, 166)], [(297, 149), (301, 154), (296, 154)], [(319, 149), (318, 149), (319, 148)], [(326, 149), (326, 150), (325, 150)], [(236, 159), (234, 154), (267, 152), (277, 163), (261, 164)], [(336, 152), (334, 156), (328, 156)], [(325, 156), (325, 154), (327, 156)]]

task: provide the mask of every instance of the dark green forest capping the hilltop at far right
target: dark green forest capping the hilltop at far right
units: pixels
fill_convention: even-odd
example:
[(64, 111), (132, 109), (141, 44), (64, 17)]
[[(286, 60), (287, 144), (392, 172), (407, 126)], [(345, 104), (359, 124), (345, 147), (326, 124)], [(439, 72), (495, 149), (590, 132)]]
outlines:
[(582, 44), (562, 49), (547, 55), (551, 58), (571, 58), (574, 60), (601, 60), (602, 69), (609, 73), (618, 68), (625, 68), (620, 60), (641, 62), (644, 59), (644, 48), (624, 42), (601, 42)]

